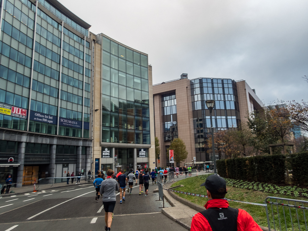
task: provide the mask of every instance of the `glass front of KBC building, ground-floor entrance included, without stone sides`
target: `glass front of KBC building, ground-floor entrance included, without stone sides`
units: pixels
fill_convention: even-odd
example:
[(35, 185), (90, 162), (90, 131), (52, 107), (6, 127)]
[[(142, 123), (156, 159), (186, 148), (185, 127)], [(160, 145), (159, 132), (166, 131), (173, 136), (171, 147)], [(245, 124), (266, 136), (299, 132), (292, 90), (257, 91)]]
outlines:
[[(99, 41), (102, 52), (102, 156), (101, 166), (97, 168), (128, 171), (148, 167), (148, 148), (151, 147), (148, 55), (104, 34), (99, 35)], [(108, 152), (111, 154), (107, 155)]]

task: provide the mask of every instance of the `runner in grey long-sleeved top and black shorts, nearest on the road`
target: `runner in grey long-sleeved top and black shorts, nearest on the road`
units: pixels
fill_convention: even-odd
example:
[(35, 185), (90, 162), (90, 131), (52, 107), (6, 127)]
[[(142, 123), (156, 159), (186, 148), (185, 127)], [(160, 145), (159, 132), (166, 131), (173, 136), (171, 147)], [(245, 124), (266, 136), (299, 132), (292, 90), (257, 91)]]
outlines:
[(113, 210), (115, 208), (116, 195), (115, 191), (119, 191), (118, 182), (113, 179), (114, 172), (112, 169), (107, 170), (107, 179), (100, 185), (100, 195), (103, 195), (103, 206), (105, 210), (105, 230), (110, 231), (112, 223)]

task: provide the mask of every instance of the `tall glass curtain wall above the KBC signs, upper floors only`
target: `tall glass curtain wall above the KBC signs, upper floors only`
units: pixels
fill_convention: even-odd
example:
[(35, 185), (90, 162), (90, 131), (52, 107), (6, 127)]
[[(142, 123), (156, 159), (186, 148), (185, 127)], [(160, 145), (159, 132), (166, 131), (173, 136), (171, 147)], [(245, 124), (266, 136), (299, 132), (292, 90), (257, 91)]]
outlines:
[(101, 38), (102, 142), (150, 144), (148, 56)]

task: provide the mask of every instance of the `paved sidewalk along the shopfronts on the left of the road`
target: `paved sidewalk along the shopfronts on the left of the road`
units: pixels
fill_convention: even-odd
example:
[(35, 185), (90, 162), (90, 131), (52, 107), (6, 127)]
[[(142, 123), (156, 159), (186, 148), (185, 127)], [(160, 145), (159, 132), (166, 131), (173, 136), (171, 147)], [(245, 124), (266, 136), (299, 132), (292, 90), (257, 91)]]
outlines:
[[(75, 183), (76, 183), (76, 181), (74, 181), (74, 183), (71, 184), (71, 180), (70, 180), (69, 184), (67, 184), (66, 182), (55, 183), (55, 184), (36, 184), (35, 190), (39, 192), (39, 191), (43, 191), (43, 190), (53, 190), (54, 188), (72, 187), (72, 186), (75, 186)], [(79, 185), (81, 185), (81, 184), (93, 184), (93, 183), (92, 182), (85, 183), (85, 180), (82, 180)], [(23, 185), (21, 188), (11, 187), (10, 192), (12, 192), (12, 191), (14, 193), (1, 194), (1, 196), (2, 197), (10, 197), (10, 196), (24, 194), (24, 193), (33, 193), (34, 184)]]

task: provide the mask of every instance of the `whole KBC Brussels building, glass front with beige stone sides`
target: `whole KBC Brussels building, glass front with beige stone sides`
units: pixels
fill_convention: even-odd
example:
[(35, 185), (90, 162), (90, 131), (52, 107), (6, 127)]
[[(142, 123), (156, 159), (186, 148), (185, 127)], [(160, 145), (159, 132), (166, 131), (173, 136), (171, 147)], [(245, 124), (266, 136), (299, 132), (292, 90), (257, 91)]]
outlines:
[(93, 169), (155, 167), (148, 55), (104, 34), (91, 36), (95, 38)]

